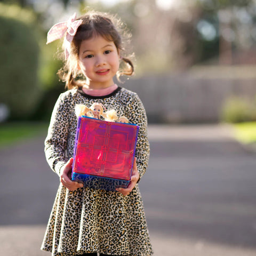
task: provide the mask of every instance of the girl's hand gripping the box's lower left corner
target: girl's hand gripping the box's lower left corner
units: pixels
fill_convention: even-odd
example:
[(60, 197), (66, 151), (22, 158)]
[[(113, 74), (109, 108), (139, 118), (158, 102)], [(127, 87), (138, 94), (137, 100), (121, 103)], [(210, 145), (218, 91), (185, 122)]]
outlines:
[(60, 182), (64, 187), (70, 191), (74, 191), (77, 188), (82, 188), (83, 184), (71, 180), (71, 171), (74, 158), (70, 158), (69, 161), (63, 165), (60, 169)]

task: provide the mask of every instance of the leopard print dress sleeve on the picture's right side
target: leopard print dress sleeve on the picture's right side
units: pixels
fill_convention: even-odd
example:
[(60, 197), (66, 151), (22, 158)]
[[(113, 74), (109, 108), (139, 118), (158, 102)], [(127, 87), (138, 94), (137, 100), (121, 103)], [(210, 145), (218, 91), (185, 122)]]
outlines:
[(126, 116), (129, 122), (140, 126), (135, 157), (137, 158), (137, 167), (141, 178), (147, 170), (150, 154), (147, 115), (140, 98), (135, 93), (134, 97), (130, 99), (126, 106)]

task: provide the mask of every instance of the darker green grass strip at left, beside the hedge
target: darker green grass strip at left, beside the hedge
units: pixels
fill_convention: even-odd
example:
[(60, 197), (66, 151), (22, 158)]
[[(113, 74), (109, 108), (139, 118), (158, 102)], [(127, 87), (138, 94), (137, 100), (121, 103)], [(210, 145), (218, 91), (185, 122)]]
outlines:
[(0, 147), (13, 145), (17, 142), (33, 139), (37, 135), (46, 135), (46, 123), (10, 122), (0, 124)]

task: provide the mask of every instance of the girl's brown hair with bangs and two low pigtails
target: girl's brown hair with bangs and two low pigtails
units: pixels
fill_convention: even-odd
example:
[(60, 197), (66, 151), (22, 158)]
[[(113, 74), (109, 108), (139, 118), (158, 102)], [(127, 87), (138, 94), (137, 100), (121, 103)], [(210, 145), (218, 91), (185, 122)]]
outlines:
[(66, 82), (67, 89), (82, 86), (83, 80), (79, 79), (82, 77), (82, 73), (77, 70), (79, 48), (82, 41), (97, 35), (102, 36), (107, 41), (113, 41), (118, 53), (122, 56), (124, 65), (117, 71), (118, 81), (121, 75), (130, 76), (134, 73), (134, 66), (130, 58), (123, 57), (125, 51), (123, 43), (129, 41), (130, 34), (123, 28), (124, 25), (119, 19), (107, 13), (93, 11), (86, 13), (77, 20), (83, 20), (83, 23), (78, 27), (71, 42), (70, 54), (65, 65), (58, 71), (59, 77), (63, 82)]

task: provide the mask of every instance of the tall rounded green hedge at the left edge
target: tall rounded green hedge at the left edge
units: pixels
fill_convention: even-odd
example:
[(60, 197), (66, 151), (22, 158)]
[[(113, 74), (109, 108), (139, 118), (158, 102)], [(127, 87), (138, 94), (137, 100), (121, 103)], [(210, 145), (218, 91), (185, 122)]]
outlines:
[(0, 102), (10, 119), (27, 119), (41, 93), (36, 18), (16, 5), (0, 4), (0, 10)]

